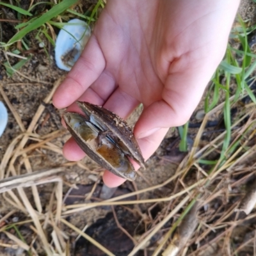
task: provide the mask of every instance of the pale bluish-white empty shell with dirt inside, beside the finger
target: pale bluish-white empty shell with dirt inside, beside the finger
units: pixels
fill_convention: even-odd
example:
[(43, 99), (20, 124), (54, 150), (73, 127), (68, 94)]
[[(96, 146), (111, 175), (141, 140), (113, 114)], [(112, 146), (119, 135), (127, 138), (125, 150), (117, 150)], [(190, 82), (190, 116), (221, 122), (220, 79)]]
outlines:
[(69, 71), (81, 55), (91, 35), (91, 29), (83, 20), (69, 20), (57, 36), (55, 60), (58, 68)]

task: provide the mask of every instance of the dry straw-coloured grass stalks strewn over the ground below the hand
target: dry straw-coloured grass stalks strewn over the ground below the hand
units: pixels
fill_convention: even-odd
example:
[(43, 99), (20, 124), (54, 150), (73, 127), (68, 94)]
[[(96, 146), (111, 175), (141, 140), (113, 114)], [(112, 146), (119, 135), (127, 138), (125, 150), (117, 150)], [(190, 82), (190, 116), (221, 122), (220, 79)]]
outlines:
[[(45, 103), (51, 100), (58, 84), (60, 84), (60, 79), (52, 86), (51, 92), (44, 100)], [(5, 198), (6, 202), (13, 205), (13, 211), (3, 216), (0, 223), (4, 223), (17, 211), (23, 212), (27, 218), (25, 221), (15, 223), (16, 227), (24, 223), (30, 223), (29, 227), (34, 237), (33, 243), (37, 241), (47, 255), (69, 255), (69, 238), (65, 232), (67, 228), (76, 232), (77, 237), (83, 236), (90, 243), (100, 248), (106, 255), (114, 255), (92, 237), (85, 234), (84, 230), (75, 227), (65, 218), (77, 212), (86, 212), (87, 209), (102, 205), (135, 204), (151, 204), (154, 206), (159, 204), (162, 210), (157, 219), (152, 220), (150, 228), (145, 230), (145, 234), (142, 234), (139, 238), (130, 237), (136, 244), (132, 252), (129, 253), (130, 256), (136, 255), (139, 250), (145, 250), (146, 252), (152, 237), (161, 231), (163, 231), (164, 235), (159, 239), (159, 243), (150, 246), (148, 249), (150, 250), (149, 252), (152, 252), (152, 255), (160, 255), (161, 253), (164, 256), (205, 255), (204, 253), (206, 252), (211, 255), (213, 248), (214, 253), (221, 252), (221, 255), (237, 255), (248, 245), (253, 246), (255, 252), (255, 237), (244, 241), (236, 248), (232, 248), (232, 239), (234, 239), (232, 232), (234, 229), (243, 225), (245, 221), (256, 217), (255, 213), (251, 213), (255, 205), (255, 186), (246, 193), (244, 191), (244, 185), (252, 177), (255, 177), (256, 170), (256, 164), (252, 163), (256, 148), (254, 142), (256, 109), (254, 104), (248, 104), (240, 108), (239, 115), (237, 115), (232, 124), (232, 143), (225, 151), (226, 159), (225, 161), (219, 161), (214, 165), (214, 168), (209, 168), (207, 164), (200, 164), (200, 160), (207, 159), (212, 154), (220, 154), (226, 131), (212, 137), (212, 140), (208, 141), (209, 143), (204, 147), (202, 147), (201, 138), (204, 134), (207, 120), (217, 111), (220, 111), (223, 104), (220, 104), (205, 115), (202, 125), (196, 134), (191, 152), (179, 164), (175, 175), (163, 182), (163, 184), (136, 190), (102, 202), (63, 205), (63, 179), (59, 174), (65, 172), (65, 169), (60, 166), (59, 168), (36, 171), (33, 170), (28, 157), (31, 150), (46, 146), (49, 146), (47, 147), (49, 150), (60, 153), (61, 148), (50, 141), (56, 136), (61, 136), (62, 131), (52, 132), (42, 137), (35, 133), (34, 128), (45, 108), (42, 104), (36, 111), (28, 129), (25, 129), (19, 114), (12, 107), (1, 85), (0, 93), (12, 111), (13, 116), (15, 116), (21, 131), (19, 136), (8, 146), (0, 164), (0, 193), (3, 193), (3, 198)], [(35, 143), (26, 146), (28, 140), (34, 140)], [(19, 175), (15, 170), (17, 157), (22, 157), (27, 170), (26, 174)], [(188, 179), (188, 177), (191, 177), (191, 170), (194, 172), (193, 182)], [(52, 191), (49, 206), (43, 210), (37, 186), (48, 182), (54, 182), (56, 186)], [(164, 188), (170, 182), (176, 185), (169, 195), (165, 195), (162, 198), (140, 199), (140, 195), (143, 195), (143, 193), (157, 191), (157, 189)], [(33, 193), (33, 204), (29, 202), (28, 195), (24, 191), (24, 187), (28, 186), (31, 186)], [(124, 200), (134, 195), (138, 196), (137, 200)], [(223, 202), (223, 205), (218, 209), (214, 208), (216, 200)], [(163, 205), (162, 202), (166, 202), (166, 204)], [(243, 212), (246, 212), (247, 215)], [(118, 223), (117, 219), (116, 223)], [(169, 225), (171, 223), (168, 230), (166, 230), (166, 223), (169, 223)], [(120, 224), (118, 226), (123, 232), (126, 232)], [(47, 227), (51, 227), (51, 234), (47, 234), (47, 230), (49, 230)], [(0, 246), (22, 248), (32, 253), (31, 255), (38, 255), (35, 248), (33, 248), (33, 243), (27, 244), (20, 237), (8, 232), (8, 225), (2, 224), (0, 232), (3, 232), (12, 241), (9, 244), (1, 243)], [(197, 248), (195, 244), (197, 244)]]

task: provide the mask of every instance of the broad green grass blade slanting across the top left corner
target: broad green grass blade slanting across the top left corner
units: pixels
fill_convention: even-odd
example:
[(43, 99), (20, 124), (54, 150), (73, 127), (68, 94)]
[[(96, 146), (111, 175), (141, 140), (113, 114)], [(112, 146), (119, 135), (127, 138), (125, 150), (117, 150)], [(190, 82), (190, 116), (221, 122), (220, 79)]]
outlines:
[(73, 4), (76, 4), (78, 0), (63, 0), (61, 3), (56, 4), (49, 10), (48, 12), (44, 13), (41, 17), (31, 22), (26, 28), (20, 30), (16, 35), (14, 35), (8, 44), (13, 44), (14, 42), (20, 40), (25, 35), (27, 35), (29, 32), (33, 31), (36, 28), (39, 28), (45, 22), (48, 22), (54, 17), (57, 17), (60, 13), (65, 12), (70, 6)]

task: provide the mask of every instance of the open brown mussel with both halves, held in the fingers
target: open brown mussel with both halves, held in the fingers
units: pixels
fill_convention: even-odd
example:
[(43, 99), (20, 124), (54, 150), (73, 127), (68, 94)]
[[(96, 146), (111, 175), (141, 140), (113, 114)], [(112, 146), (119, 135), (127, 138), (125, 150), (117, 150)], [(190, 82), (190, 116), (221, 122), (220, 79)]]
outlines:
[(115, 175), (128, 180), (136, 179), (130, 159), (141, 167), (145, 167), (145, 161), (130, 127), (108, 109), (88, 102), (76, 103), (84, 115), (67, 112), (63, 118), (79, 147)]

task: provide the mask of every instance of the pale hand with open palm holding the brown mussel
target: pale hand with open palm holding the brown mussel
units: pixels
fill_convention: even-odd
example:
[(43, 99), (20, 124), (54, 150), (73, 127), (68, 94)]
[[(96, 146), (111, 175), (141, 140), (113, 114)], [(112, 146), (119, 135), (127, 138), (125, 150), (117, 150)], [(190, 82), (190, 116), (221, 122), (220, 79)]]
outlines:
[[(76, 65), (53, 97), (56, 108), (78, 111), (92, 102), (127, 118), (143, 103), (134, 127), (145, 159), (168, 128), (186, 123), (223, 58), (238, 0), (108, 0)], [(71, 138), (72, 161), (84, 152)], [(138, 168), (138, 166), (136, 166)], [(104, 173), (109, 187), (124, 179)]]

